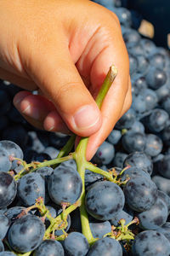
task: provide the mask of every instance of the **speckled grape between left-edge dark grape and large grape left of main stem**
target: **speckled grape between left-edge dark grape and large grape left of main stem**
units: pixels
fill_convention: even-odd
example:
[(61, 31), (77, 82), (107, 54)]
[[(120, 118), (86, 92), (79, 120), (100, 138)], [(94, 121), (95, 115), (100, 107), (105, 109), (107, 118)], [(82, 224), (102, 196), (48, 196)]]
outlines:
[(28, 173), (18, 183), (18, 193), (25, 206), (35, 204), (38, 197), (45, 198), (45, 181), (39, 173)]

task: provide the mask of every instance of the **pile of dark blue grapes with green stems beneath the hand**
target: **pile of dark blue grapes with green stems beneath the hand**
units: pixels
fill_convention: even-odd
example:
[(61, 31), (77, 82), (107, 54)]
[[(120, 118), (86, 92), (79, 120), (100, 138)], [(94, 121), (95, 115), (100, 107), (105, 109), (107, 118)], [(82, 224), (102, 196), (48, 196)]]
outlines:
[(32, 127), (12, 104), (20, 88), (0, 81), (0, 256), (170, 255), (169, 53), (119, 1), (95, 2), (121, 22), (132, 107), (90, 163), (88, 138), (73, 151), (75, 136)]

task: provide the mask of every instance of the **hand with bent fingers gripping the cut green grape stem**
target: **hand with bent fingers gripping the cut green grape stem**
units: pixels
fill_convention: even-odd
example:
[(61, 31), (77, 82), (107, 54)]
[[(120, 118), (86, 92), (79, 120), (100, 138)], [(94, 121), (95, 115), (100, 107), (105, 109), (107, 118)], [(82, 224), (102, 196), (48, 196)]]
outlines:
[[(88, 160), (131, 104), (127, 50), (116, 15), (90, 1), (1, 0), (0, 78), (22, 91), (14, 105), (47, 131), (92, 136)], [(118, 75), (94, 102), (111, 64)]]

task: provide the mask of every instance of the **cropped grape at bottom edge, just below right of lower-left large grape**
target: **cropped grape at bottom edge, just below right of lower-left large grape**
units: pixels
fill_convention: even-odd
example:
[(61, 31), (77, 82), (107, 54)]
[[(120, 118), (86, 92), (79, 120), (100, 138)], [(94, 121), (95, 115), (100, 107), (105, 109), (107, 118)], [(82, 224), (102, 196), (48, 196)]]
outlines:
[(64, 256), (64, 249), (59, 241), (48, 239), (34, 251), (34, 256)]

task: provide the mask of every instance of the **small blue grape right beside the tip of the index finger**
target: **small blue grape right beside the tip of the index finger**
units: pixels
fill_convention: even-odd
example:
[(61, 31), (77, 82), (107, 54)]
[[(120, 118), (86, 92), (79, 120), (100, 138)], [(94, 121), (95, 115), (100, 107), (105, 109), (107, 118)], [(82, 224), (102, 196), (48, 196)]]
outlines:
[(114, 156), (115, 148), (111, 143), (107, 142), (102, 143), (95, 154), (95, 157), (99, 159), (103, 165), (110, 164)]

